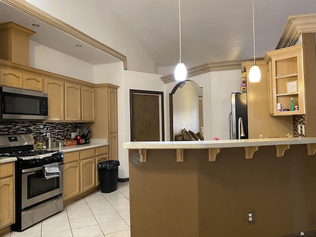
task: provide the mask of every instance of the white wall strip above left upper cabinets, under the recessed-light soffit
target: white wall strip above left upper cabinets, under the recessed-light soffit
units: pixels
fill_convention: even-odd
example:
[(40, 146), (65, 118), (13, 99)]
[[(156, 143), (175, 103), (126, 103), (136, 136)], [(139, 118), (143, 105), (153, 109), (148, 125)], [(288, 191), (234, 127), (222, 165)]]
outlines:
[(30, 67), (93, 82), (93, 64), (30, 40)]

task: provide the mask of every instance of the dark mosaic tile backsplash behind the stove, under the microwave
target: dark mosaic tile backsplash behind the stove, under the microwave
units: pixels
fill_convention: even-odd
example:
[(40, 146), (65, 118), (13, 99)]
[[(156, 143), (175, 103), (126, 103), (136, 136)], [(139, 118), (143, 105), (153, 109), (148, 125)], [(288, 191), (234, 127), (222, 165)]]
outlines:
[(71, 139), (71, 133), (84, 127), (83, 122), (38, 122), (38, 121), (5, 121), (0, 122), (0, 135), (32, 134), (35, 142), (41, 141), (50, 132), (54, 142)]

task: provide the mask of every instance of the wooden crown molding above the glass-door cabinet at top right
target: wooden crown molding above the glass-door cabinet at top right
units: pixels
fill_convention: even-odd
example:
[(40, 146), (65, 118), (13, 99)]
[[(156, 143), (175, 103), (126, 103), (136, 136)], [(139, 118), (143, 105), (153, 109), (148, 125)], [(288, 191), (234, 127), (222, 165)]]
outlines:
[(316, 32), (316, 13), (289, 16), (276, 49), (292, 46), (300, 35)]

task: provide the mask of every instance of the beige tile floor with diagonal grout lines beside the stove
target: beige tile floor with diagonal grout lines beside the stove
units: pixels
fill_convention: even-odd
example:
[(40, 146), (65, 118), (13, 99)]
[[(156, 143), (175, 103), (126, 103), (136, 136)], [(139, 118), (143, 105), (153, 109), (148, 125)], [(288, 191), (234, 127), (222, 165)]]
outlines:
[(129, 184), (118, 190), (95, 192), (69, 204), (63, 211), (4, 237), (130, 237)]

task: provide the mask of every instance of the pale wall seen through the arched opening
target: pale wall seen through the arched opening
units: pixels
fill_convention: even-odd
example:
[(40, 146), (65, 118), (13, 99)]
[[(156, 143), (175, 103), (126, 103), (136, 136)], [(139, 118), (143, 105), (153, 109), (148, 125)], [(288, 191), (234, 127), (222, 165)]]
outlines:
[(192, 83), (178, 87), (172, 96), (173, 101), (173, 136), (183, 128), (195, 133), (199, 131), (198, 95)]

